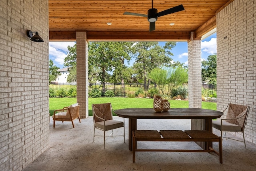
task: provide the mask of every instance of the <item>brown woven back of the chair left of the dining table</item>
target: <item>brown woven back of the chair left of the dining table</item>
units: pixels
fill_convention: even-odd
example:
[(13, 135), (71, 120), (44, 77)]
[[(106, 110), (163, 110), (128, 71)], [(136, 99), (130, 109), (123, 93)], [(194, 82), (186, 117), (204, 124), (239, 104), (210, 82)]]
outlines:
[[(93, 104), (92, 107), (93, 107), (94, 115), (97, 115), (98, 117), (101, 117), (101, 118), (106, 119), (106, 120), (113, 119), (111, 103)], [(102, 121), (98, 117), (94, 116), (94, 121), (95, 122)]]

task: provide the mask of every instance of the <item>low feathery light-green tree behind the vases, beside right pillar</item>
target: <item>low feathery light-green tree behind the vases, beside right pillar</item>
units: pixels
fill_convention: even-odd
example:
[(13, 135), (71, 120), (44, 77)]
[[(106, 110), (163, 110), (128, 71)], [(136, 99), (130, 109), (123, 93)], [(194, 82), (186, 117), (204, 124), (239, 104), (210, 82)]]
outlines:
[[(188, 82), (188, 70), (182, 67), (154, 68), (150, 72), (150, 78), (158, 85), (163, 94), (170, 95), (172, 90), (179, 85)], [(168, 91), (165, 92), (165, 85)]]

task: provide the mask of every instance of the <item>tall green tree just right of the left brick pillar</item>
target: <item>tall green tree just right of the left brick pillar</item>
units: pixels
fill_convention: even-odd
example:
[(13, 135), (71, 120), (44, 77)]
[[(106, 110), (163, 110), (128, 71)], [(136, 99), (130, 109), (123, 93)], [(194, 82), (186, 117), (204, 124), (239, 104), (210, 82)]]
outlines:
[(115, 73), (123, 80), (125, 70), (124, 61), (130, 60), (129, 48), (132, 42), (90, 42), (89, 43), (89, 64), (100, 68), (100, 81), (102, 92), (106, 92), (106, 77), (108, 72)]

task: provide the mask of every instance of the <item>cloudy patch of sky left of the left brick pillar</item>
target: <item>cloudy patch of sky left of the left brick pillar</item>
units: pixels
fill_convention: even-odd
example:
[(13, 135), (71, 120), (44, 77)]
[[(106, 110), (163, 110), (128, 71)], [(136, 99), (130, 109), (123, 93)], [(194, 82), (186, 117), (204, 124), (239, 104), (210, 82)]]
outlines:
[(53, 62), (63, 65), (64, 58), (67, 56), (68, 45), (74, 46), (76, 42), (49, 42), (49, 56)]

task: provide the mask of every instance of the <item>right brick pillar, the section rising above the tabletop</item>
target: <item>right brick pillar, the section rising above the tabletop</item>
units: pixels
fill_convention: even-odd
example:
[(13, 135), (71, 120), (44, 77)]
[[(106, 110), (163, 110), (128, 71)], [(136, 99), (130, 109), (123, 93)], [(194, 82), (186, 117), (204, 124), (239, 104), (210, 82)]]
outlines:
[(202, 68), (201, 68), (201, 40), (188, 42), (188, 104), (189, 107), (202, 107)]

